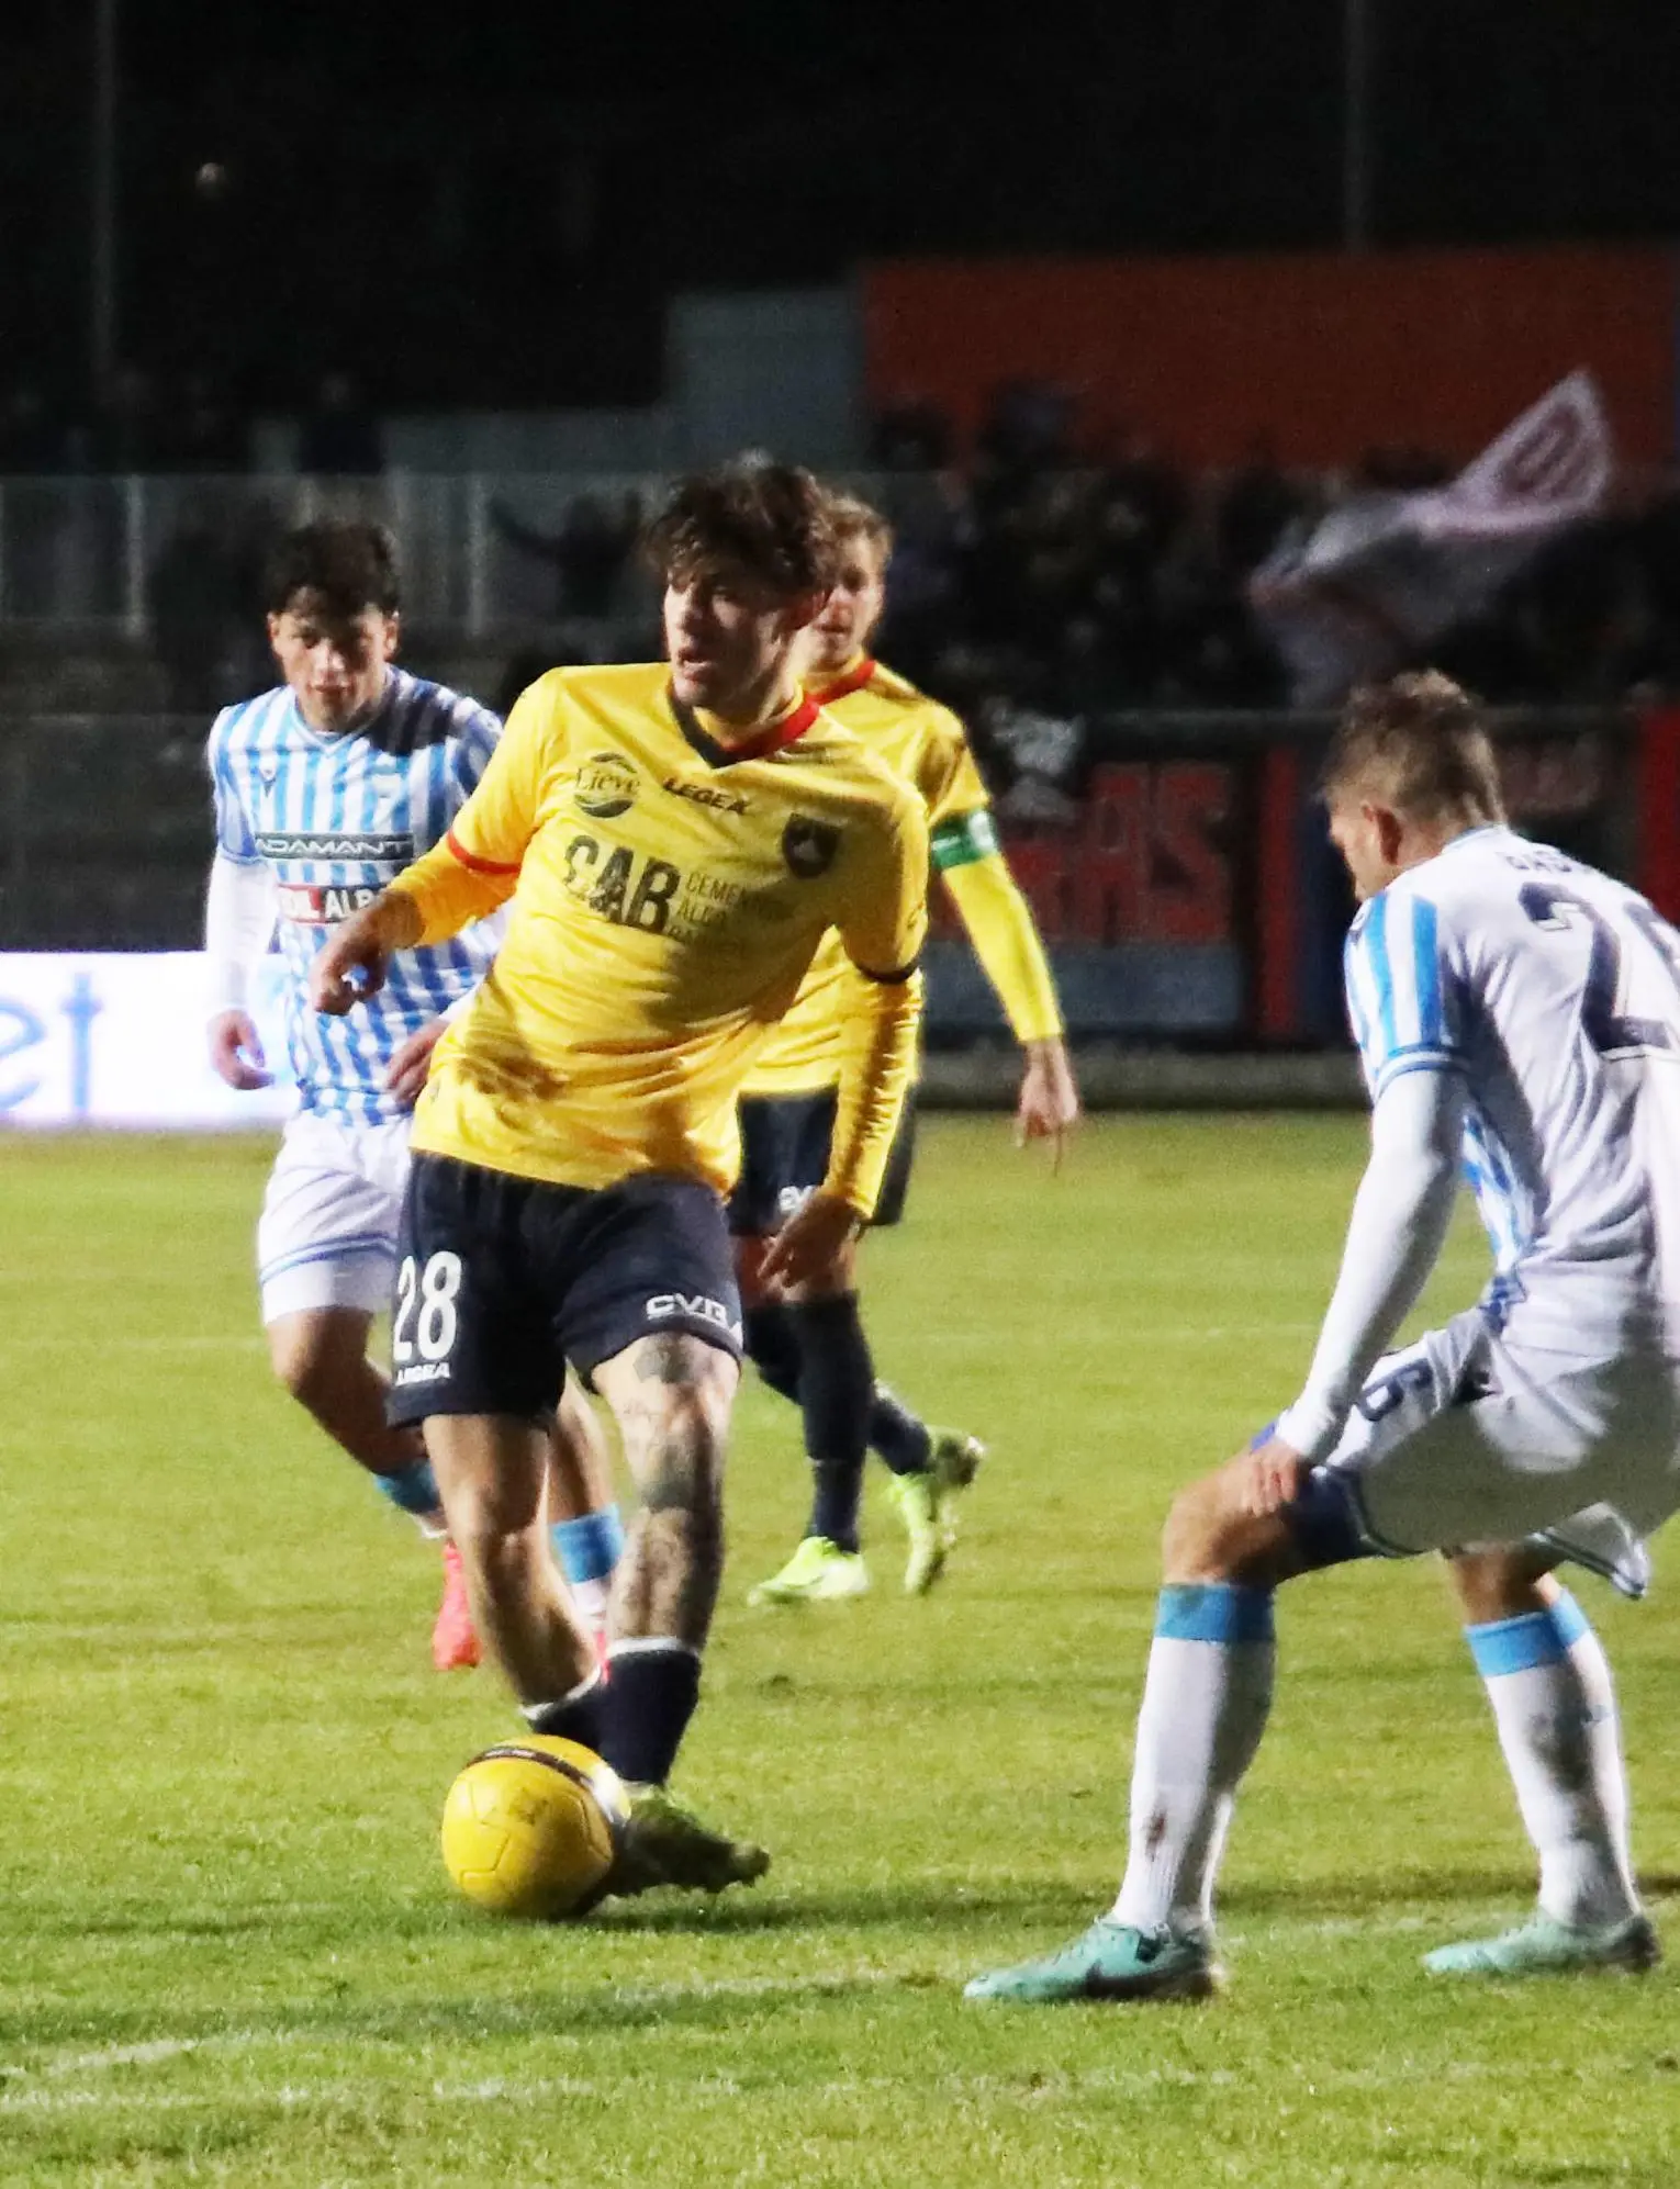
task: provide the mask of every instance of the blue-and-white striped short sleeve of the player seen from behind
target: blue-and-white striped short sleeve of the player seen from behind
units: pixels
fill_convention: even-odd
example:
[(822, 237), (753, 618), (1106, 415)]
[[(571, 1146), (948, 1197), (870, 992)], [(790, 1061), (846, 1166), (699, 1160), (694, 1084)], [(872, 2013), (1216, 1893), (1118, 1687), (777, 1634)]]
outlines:
[(1463, 1007), (1435, 904), (1411, 889), (1371, 897), (1345, 950), (1347, 1016), (1376, 1101), (1406, 1073), (1463, 1066)]

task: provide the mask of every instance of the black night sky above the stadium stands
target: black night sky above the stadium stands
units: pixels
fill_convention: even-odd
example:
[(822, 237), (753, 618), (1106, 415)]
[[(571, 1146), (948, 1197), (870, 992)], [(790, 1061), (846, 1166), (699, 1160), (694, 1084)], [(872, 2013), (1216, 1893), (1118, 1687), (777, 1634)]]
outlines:
[[(1680, 4), (1369, 0), (1378, 243), (1680, 232)], [(1327, 245), (1340, 0), (123, 0), (120, 352), (287, 407), (659, 387), (679, 287)], [(0, 24), (0, 383), (79, 401), (92, 0)], [(204, 162), (226, 186), (204, 190)]]

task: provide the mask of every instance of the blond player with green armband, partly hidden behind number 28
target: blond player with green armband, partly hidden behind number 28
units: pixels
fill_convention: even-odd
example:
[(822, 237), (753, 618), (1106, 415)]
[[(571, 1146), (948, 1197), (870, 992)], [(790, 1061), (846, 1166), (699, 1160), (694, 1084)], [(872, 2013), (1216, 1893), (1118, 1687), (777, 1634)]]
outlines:
[[(962, 722), (916, 685), (870, 659), (885, 606), (891, 528), (850, 495), (832, 501), (841, 574), (804, 641), (804, 674), (826, 714), (854, 729), (916, 786), (933, 832), (933, 865), (955, 900), (1025, 1055), (1016, 1138), (1060, 1149), (1080, 1097), (1062, 1040), (1062, 1014), (1032, 911), (1014, 884), (992, 830), (986, 784)], [(793, 1009), (747, 1079), (740, 1105), (743, 1167), (729, 1204), (745, 1300), (747, 1353), (764, 1381), (804, 1414), (813, 1506), (804, 1541), (753, 1602), (789, 1605), (859, 1596), (870, 1570), (859, 1550), (863, 1460), (870, 1445), (894, 1471), (909, 1530), (905, 1587), (933, 1587), (955, 1541), (951, 1502), (983, 1458), (957, 1429), (929, 1429), (876, 1383), (856, 1300), (854, 1256), (799, 1292), (767, 1292), (760, 1263), (789, 1213), (821, 1182), (835, 1125), (845, 952), (830, 937), (817, 952)], [(911, 1108), (894, 1140), (874, 1224), (896, 1224), (911, 1162)]]

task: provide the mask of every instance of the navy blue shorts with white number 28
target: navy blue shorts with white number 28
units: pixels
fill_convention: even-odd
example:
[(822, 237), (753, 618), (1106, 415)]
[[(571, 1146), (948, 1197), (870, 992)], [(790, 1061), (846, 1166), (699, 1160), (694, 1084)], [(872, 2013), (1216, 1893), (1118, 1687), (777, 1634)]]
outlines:
[(670, 1331), (740, 1359), (734, 1252), (710, 1186), (659, 1173), (550, 1186), (414, 1156), (396, 1237), (394, 1425), (545, 1414), (567, 1362), (589, 1379)]

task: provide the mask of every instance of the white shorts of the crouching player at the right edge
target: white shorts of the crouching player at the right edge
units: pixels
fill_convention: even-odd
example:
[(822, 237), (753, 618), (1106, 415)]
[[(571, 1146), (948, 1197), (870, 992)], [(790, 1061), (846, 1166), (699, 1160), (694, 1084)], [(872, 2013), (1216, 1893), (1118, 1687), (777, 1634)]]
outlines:
[(1680, 1508), (1680, 1362), (1514, 1344), (1478, 1309), (1378, 1362), (1330, 1469), (1373, 1550), (1542, 1537), (1627, 1594)]

